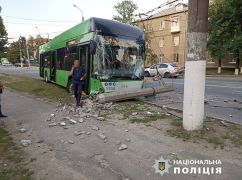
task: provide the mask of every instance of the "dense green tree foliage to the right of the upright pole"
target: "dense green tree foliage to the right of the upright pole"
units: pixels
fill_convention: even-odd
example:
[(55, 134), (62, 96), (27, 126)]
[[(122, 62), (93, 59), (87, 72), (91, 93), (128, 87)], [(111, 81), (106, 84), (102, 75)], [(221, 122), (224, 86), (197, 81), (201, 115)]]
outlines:
[(232, 52), (238, 67), (242, 53), (242, 1), (217, 0), (211, 4), (208, 31), (211, 55), (221, 60), (226, 52)]

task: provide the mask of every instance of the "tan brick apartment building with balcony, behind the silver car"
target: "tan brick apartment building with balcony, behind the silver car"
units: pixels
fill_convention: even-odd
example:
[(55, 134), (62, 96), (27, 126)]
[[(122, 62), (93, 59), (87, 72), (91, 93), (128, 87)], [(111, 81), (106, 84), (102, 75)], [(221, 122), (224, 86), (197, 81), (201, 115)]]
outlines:
[(179, 3), (139, 23), (149, 36), (149, 49), (155, 54), (155, 59), (148, 54), (148, 66), (160, 62), (184, 66), (187, 17), (187, 4)]

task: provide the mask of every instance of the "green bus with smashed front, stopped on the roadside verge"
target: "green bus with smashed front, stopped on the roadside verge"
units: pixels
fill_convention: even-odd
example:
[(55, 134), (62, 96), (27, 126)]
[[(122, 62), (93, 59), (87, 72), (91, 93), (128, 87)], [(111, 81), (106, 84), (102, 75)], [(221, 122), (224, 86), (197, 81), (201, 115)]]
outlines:
[(86, 94), (140, 89), (144, 33), (117, 21), (90, 18), (40, 46), (40, 76), (70, 89), (74, 60), (80, 60), (87, 73), (83, 81)]

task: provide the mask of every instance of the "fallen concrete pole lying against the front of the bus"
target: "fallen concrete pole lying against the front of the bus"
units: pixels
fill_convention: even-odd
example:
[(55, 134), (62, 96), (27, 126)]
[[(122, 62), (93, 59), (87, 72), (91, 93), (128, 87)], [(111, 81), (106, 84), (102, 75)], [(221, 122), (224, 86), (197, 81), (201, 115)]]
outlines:
[(141, 96), (152, 96), (160, 93), (166, 93), (174, 91), (175, 88), (172, 87), (153, 87), (144, 88), (138, 90), (126, 90), (120, 92), (103, 93), (97, 96), (97, 101), (99, 103), (123, 101), (128, 99), (133, 99)]

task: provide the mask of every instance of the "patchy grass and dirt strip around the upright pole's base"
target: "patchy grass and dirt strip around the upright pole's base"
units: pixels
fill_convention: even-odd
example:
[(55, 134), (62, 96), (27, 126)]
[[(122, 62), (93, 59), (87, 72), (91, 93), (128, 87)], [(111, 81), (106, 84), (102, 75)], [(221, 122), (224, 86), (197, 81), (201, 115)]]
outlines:
[[(171, 114), (168, 112), (172, 111)], [(242, 127), (219, 119), (207, 118), (203, 129), (186, 131), (182, 127), (182, 119), (175, 114), (182, 111), (161, 108), (139, 101), (124, 101), (115, 103), (112, 108), (102, 109), (99, 113), (105, 118), (126, 120), (131, 123), (144, 123), (165, 132), (166, 135), (193, 143), (209, 143), (214, 148), (227, 147), (241, 148)]]

